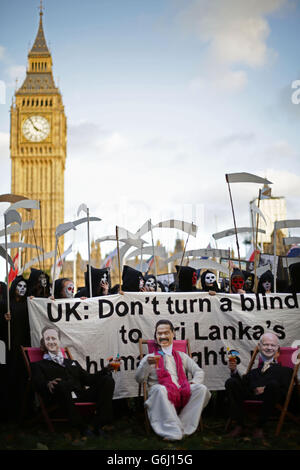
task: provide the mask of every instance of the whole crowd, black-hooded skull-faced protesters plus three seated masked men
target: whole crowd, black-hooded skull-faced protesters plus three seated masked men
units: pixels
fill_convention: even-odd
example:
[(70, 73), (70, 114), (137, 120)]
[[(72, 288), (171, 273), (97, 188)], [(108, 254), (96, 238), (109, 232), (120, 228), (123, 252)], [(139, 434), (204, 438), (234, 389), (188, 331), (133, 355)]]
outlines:
[[(299, 289), (300, 263), (290, 267), (290, 284), (284, 292), (297, 293)], [(274, 292), (274, 279), (271, 271), (261, 275), (257, 288), (253, 273), (233, 268), (229, 286), (218, 282), (217, 276), (210, 270), (199, 273), (189, 266), (176, 266), (175, 280), (168, 286), (168, 291), (207, 292), (215, 295), (218, 292), (232, 294)], [(91, 285), (90, 285), (91, 281)], [(201, 283), (201, 286), (199, 284)], [(122, 292), (156, 292), (164, 291), (165, 286), (154, 275), (143, 274), (139, 270), (124, 266), (122, 284), (111, 285), (109, 268), (89, 268), (85, 272), (85, 286), (74, 291), (72, 279), (59, 278), (54, 286), (49, 276), (42, 270), (31, 269), (25, 279), (17, 276), (9, 288), (9, 309), (7, 285), (0, 283), (0, 340), (9, 344), (5, 378), (1, 390), (1, 402), (10, 416), (20, 413), (22, 397), (27, 377), (20, 346), (30, 346), (30, 325), (27, 298), (43, 297), (71, 299), (114, 295)], [(9, 323), (9, 328), (8, 328)], [(187, 354), (177, 353), (173, 348), (175, 338), (174, 326), (167, 320), (155, 326), (154, 338), (156, 352), (146, 355), (136, 372), (137, 382), (146, 381), (149, 396), (145, 403), (153, 430), (164, 439), (180, 440), (197, 429), (201, 413), (210, 400), (210, 391), (204, 385), (204, 371)], [(254, 369), (247, 376), (240, 376), (236, 364), (230, 364), (230, 378), (224, 384), (229, 400), (231, 416), (237, 426), (232, 436), (239, 436), (244, 421), (241, 403), (245, 397), (256, 397), (264, 402), (257, 422), (256, 436), (263, 436), (263, 428), (274, 405), (286, 393), (291, 372), (279, 367), (276, 357), (279, 351), (279, 340), (275, 334), (263, 335), (259, 347), (264, 364), (263, 369)], [(37, 389), (46, 399), (55, 398), (70, 418), (70, 423), (78, 427), (81, 433), (103, 432), (103, 427), (113, 421), (112, 397), (114, 380), (112, 367), (108, 363), (99, 373), (87, 373), (75, 360), (61, 357), (60, 333), (54, 326), (48, 326), (41, 332), (43, 359), (34, 364), (33, 378)], [(160, 355), (159, 368), (155, 367), (153, 356)], [(2, 366), (1, 366), (2, 367)], [(1, 369), (3, 371), (3, 367)], [(187, 378), (187, 373), (192, 377)], [(2, 377), (3, 378), (3, 377)], [(88, 392), (86, 386), (89, 386)], [(96, 402), (96, 414), (93, 431), (84, 427), (74, 407), (76, 399), (89, 399)], [(10, 405), (10, 406), (9, 406)], [(2, 410), (3, 413), (3, 410)]]

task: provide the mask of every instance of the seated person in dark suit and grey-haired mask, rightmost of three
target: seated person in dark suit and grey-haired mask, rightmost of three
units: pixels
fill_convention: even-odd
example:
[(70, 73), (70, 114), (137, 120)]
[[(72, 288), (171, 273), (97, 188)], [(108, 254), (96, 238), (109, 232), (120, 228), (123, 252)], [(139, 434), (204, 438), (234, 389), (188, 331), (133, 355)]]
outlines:
[(237, 425), (230, 433), (231, 437), (238, 437), (243, 433), (244, 412), (243, 400), (262, 400), (254, 437), (264, 437), (264, 427), (270, 417), (274, 406), (286, 396), (292, 369), (278, 364), (276, 358), (279, 354), (279, 340), (274, 333), (265, 333), (258, 344), (260, 358), (259, 367), (251, 369), (243, 377), (237, 371), (236, 363), (229, 362), (231, 377), (225, 383), (229, 398), (230, 417)]

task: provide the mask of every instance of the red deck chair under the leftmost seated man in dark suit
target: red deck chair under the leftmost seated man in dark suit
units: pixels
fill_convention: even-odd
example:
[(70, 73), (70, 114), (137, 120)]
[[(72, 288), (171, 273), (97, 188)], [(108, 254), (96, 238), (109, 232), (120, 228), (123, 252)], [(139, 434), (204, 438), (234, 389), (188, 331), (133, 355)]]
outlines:
[[(36, 398), (38, 405), (40, 407), (40, 412), (42, 418), (44, 419), (47, 428), (50, 432), (55, 432), (54, 430), (54, 422), (67, 422), (68, 418), (63, 415), (61, 410), (59, 410), (58, 405), (51, 405), (47, 406), (41, 396), (41, 394), (34, 389), (33, 381), (32, 381), (32, 372), (31, 372), (31, 363), (40, 361), (43, 358), (43, 351), (40, 348), (32, 348), (32, 347), (24, 347), (21, 346), (21, 351), (26, 367), (26, 371), (28, 374), (27, 386), (25, 390), (25, 396), (23, 399), (23, 406), (22, 406), (22, 416), (24, 416), (24, 410), (28, 402), (28, 396), (30, 391), (33, 391)], [(68, 348), (61, 348), (61, 352), (63, 353), (64, 357), (68, 359), (73, 359), (70, 350)], [(81, 413), (91, 413), (95, 410), (95, 403), (94, 402), (75, 402), (75, 406), (78, 407), (78, 410)]]

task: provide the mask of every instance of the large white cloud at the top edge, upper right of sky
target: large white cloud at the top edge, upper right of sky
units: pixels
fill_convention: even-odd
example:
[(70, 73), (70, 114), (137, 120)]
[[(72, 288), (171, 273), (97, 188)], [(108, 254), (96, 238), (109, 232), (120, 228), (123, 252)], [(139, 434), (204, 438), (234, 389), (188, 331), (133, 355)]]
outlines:
[(287, 2), (196, 0), (182, 12), (181, 21), (206, 45), (201, 67), (206, 83), (240, 91), (247, 84), (245, 68), (262, 67), (274, 60), (276, 52), (267, 45), (270, 26), (266, 16)]

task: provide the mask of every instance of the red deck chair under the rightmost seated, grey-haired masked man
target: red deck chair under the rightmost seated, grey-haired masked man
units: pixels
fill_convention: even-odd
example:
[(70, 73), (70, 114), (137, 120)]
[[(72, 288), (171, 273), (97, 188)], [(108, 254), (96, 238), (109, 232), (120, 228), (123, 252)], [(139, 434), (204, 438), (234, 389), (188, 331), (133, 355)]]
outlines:
[[(259, 353), (259, 348), (256, 346), (252, 357), (250, 359), (249, 365), (247, 367), (246, 374), (252, 369), (254, 362), (257, 358), (257, 354)], [(261, 361), (261, 359), (259, 359)], [(291, 397), (293, 392), (298, 394), (299, 396), (299, 384), (298, 384), (298, 378), (297, 378), (297, 373), (299, 369), (299, 362), (300, 362), (300, 349), (298, 348), (291, 348), (291, 347), (281, 347), (279, 349), (279, 356), (277, 358), (277, 361), (279, 364), (285, 367), (290, 367), (293, 369), (293, 374), (291, 378), (291, 382), (284, 400), (283, 404), (277, 403), (276, 404), (276, 410), (279, 411), (279, 419), (277, 421), (276, 425), (276, 430), (275, 430), (275, 435), (279, 436), (283, 422), (285, 420), (285, 417), (288, 416), (290, 419), (295, 421), (296, 423), (300, 423), (300, 420), (298, 417), (296, 417), (291, 411), (288, 410), (289, 403), (291, 401)], [(261, 400), (244, 400), (244, 409), (249, 413), (253, 410), (258, 410), (260, 406), (262, 405)], [(228, 420), (227, 428), (230, 424), (231, 420)]]

